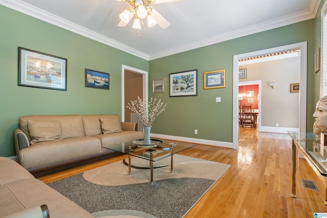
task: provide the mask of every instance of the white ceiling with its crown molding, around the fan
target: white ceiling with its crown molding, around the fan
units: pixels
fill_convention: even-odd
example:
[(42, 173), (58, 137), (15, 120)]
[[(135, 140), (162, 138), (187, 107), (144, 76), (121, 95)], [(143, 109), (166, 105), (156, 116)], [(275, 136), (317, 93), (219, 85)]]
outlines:
[[(160, 0), (157, 0), (157, 2)], [(161, 0), (162, 1), (162, 0)], [(179, 0), (151, 4), (170, 23), (118, 27), (127, 2), (0, 0), (0, 4), (152, 60), (315, 17), (320, 0)]]

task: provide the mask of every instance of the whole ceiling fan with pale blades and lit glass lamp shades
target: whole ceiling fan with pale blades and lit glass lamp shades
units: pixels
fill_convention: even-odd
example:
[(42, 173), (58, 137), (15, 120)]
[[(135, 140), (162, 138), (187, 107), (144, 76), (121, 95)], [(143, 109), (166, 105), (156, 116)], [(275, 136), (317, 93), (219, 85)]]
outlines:
[(118, 23), (119, 27), (126, 27), (129, 21), (135, 16), (133, 28), (141, 29), (141, 19), (148, 20), (148, 27), (153, 27), (158, 24), (162, 29), (170, 26), (170, 22), (159, 14), (151, 4), (178, 2), (181, 0), (116, 0), (120, 2), (128, 2), (130, 5), (123, 13), (119, 15), (121, 21)]

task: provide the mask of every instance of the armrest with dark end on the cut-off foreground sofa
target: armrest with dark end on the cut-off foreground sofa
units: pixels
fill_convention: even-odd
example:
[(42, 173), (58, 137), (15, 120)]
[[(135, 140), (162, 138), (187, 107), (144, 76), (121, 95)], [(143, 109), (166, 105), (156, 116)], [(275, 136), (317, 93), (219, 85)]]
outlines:
[(27, 208), (25, 210), (15, 212), (2, 218), (50, 218), (48, 206), (45, 204)]

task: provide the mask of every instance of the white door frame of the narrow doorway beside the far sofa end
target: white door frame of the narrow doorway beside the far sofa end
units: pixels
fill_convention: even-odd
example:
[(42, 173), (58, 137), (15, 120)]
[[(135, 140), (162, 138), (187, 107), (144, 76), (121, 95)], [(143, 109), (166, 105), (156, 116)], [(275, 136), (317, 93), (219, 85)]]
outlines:
[(134, 67), (122, 65), (122, 122), (125, 121), (125, 70), (136, 72), (136, 74), (143, 75), (143, 96), (142, 98), (148, 99), (148, 71), (137, 69)]

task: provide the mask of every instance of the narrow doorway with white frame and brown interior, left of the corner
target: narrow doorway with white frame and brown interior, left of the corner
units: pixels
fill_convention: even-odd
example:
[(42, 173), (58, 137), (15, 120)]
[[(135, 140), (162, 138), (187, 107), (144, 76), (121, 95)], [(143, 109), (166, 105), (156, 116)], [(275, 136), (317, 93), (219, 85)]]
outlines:
[(148, 72), (122, 65), (122, 121), (130, 122), (131, 111), (127, 103), (137, 97), (148, 99)]

